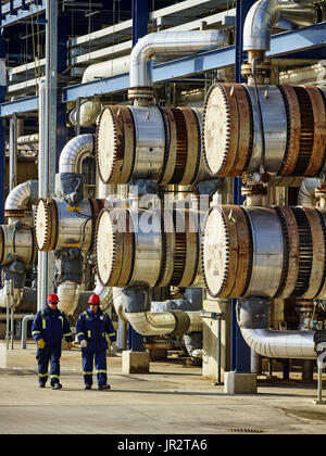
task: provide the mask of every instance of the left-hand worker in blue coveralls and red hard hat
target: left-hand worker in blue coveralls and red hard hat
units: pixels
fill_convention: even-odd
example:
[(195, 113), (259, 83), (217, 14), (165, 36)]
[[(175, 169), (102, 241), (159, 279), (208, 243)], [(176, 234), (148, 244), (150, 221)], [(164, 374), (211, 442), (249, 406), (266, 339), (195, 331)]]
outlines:
[(73, 345), (71, 326), (63, 312), (58, 308), (59, 297), (51, 293), (47, 297), (47, 305), (36, 314), (32, 326), (32, 335), (37, 342), (36, 359), (38, 363), (39, 387), (45, 388), (49, 377), (49, 362), (51, 363), (50, 385), (52, 390), (61, 390), (60, 358), (63, 337), (67, 349)]

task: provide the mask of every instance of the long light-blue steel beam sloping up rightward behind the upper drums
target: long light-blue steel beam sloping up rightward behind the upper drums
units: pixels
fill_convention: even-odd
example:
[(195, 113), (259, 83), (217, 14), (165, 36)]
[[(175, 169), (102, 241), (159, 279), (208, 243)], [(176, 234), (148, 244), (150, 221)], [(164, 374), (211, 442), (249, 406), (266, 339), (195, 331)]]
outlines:
[[(311, 27), (273, 35), (272, 49), (267, 55), (269, 58), (300, 58), (309, 52), (310, 55), (314, 53), (314, 58), (319, 55), (319, 59), (325, 59), (325, 22)], [(233, 65), (235, 61), (236, 47), (229, 46), (155, 65), (153, 68), (153, 80), (154, 83), (161, 83), (192, 74), (200, 74), (214, 68)], [(129, 75), (123, 74), (92, 83), (65, 87), (63, 89), (63, 101), (74, 101), (77, 98), (89, 98), (96, 94), (109, 94), (127, 90), (128, 87)], [(35, 111), (36, 109), (36, 97), (30, 97), (1, 104), (0, 116), (9, 116), (13, 112)]]

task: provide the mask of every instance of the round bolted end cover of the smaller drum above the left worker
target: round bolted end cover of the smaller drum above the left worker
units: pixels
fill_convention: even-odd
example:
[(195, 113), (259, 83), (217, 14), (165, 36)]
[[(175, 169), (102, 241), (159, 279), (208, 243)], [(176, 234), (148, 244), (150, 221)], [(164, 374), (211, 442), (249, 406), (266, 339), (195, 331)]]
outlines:
[(50, 252), (58, 240), (58, 211), (55, 201), (40, 198), (35, 216), (36, 243), (39, 250)]

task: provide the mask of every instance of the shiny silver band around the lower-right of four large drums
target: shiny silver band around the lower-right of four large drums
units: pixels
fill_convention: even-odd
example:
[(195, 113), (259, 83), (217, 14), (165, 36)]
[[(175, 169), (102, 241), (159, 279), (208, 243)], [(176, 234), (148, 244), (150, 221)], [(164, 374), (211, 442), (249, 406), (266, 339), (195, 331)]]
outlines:
[(280, 282), (284, 259), (283, 233), (273, 208), (248, 207), (252, 228), (252, 274), (246, 296), (274, 296)]

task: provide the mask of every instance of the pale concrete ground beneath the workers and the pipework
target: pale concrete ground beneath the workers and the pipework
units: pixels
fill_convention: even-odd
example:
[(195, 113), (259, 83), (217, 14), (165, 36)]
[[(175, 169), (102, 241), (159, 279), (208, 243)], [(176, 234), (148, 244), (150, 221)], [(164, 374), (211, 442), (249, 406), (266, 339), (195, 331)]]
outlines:
[(38, 388), (35, 344), (15, 346), (0, 369), (0, 434), (326, 433), (315, 382), (260, 381), (255, 395), (226, 395), (183, 359), (154, 362), (150, 373), (133, 375), (122, 373), (121, 360), (108, 357), (111, 391), (85, 391), (80, 351), (64, 351), (63, 389), (54, 391)]

